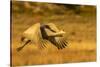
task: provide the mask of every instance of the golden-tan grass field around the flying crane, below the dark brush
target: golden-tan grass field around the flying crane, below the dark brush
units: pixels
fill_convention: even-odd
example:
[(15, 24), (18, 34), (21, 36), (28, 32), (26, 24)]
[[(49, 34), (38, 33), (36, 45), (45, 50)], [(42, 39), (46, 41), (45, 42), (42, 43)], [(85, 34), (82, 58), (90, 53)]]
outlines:
[[(41, 16), (42, 20), (38, 21), (36, 19), (38, 16)], [(47, 48), (39, 49), (36, 44), (29, 43), (17, 52), (16, 48), (22, 45), (21, 34), (37, 21), (52, 22), (59, 29), (63, 29), (66, 32), (68, 46), (58, 50), (48, 44)], [(11, 63), (14, 66), (96, 61), (96, 10), (93, 6), (84, 8), (79, 15), (70, 10), (60, 15), (28, 15), (12, 12), (11, 33)]]

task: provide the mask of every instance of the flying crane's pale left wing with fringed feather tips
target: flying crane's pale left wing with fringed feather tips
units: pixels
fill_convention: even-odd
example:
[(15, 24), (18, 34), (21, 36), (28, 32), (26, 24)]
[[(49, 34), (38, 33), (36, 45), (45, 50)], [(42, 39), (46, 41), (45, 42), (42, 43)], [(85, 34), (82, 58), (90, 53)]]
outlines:
[(39, 47), (46, 47), (46, 42), (41, 35), (40, 23), (36, 23), (28, 28), (22, 35), (23, 37), (31, 40), (34, 44), (37, 44)]

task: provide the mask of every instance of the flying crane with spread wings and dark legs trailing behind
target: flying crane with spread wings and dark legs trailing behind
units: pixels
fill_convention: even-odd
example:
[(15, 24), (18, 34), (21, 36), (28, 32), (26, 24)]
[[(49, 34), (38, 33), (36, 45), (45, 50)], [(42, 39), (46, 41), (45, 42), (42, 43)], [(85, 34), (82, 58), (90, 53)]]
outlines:
[(43, 48), (46, 47), (46, 42), (49, 41), (58, 49), (63, 49), (68, 44), (63, 34), (65, 34), (65, 32), (60, 31), (53, 23), (36, 23), (23, 33), (21, 41), (24, 42), (24, 44), (17, 48), (17, 50), (20, 51), (31, 41)]

